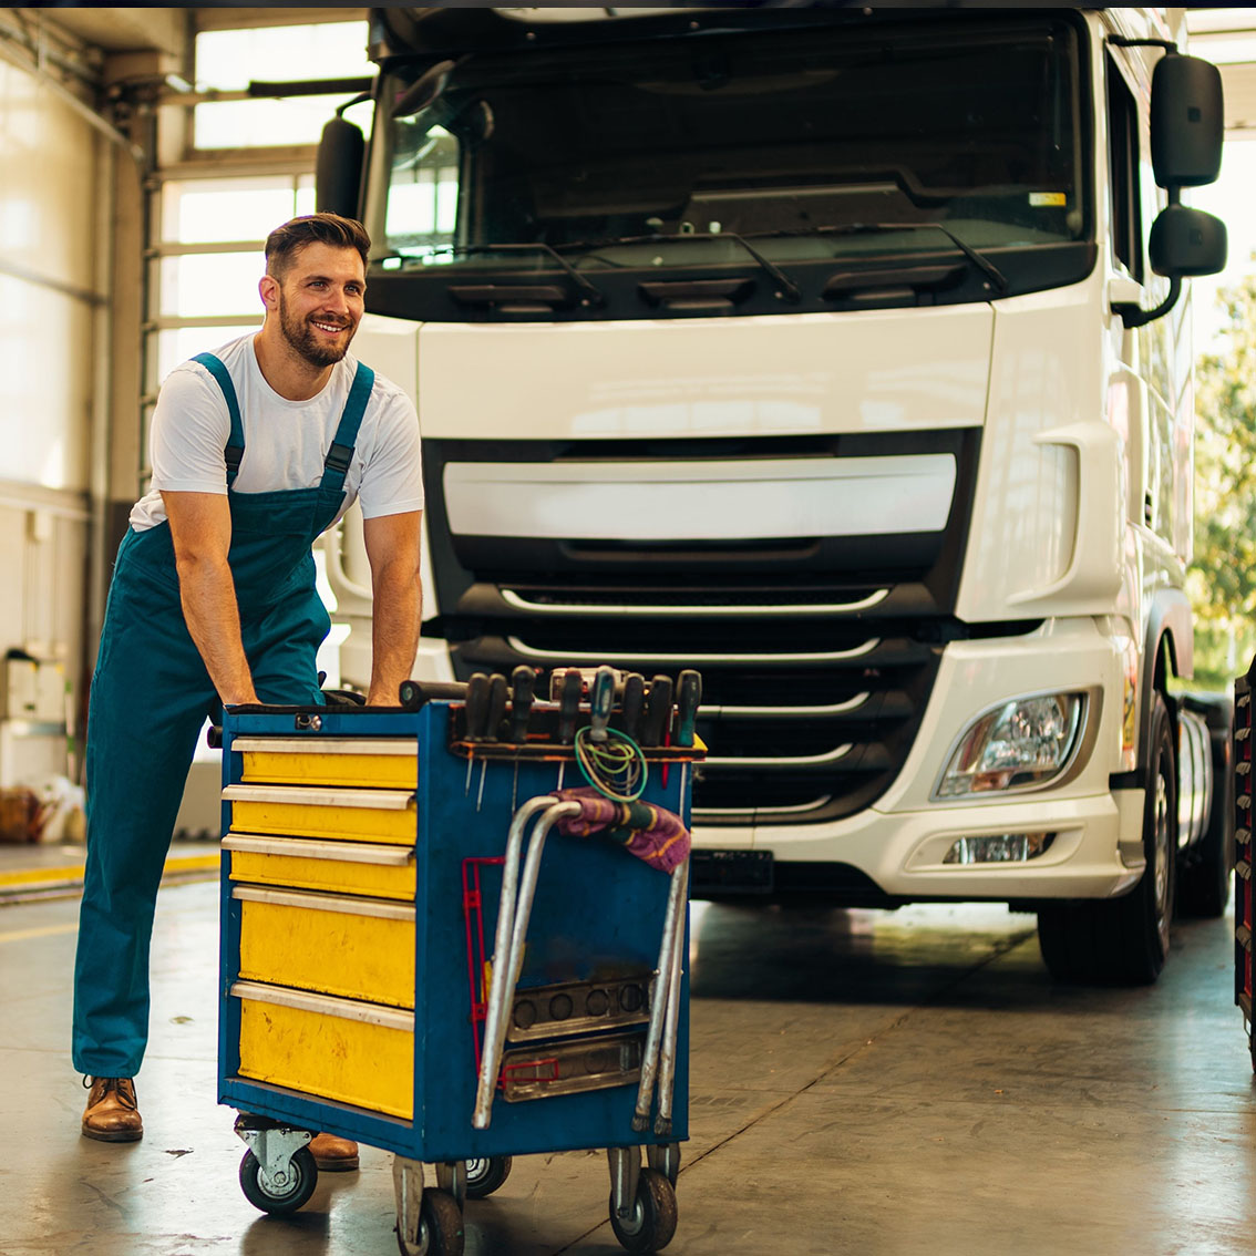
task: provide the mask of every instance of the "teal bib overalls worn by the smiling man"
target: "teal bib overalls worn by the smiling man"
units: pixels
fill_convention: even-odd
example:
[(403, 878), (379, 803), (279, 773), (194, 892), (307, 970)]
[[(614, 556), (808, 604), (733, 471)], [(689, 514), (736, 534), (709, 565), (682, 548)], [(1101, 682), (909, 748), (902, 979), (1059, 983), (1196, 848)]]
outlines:
[[(374, 373), (358, 365), (315, 489), (236, 492), (240, 403), (226, 367), (205, 365), (226, 399), (227, 560), (257, 697), (322, 703), (315, 652), (332, 625), (314, 588), (314, 541), (344, 500), (344, 477)], [(133, 1078), (148, 1039), (153, 908), (196, 741), (217, 696), (183, 622), (170, 524), (118, 548), (88, 706), (88, 845), (74, 967), (74, 1066)]]

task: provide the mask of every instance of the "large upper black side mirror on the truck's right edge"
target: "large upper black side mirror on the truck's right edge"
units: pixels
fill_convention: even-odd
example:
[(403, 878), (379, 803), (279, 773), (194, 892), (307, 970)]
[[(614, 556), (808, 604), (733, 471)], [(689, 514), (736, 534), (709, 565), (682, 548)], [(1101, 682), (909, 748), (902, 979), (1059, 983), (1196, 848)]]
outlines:
[[(1221, 173), (1226, 109), (1221, 72), (1169, 53), (1152, 72), (1152, 166), (1161, 187), (1199, 187)], [(1201, 271), (1203, 274), (1203, 271)]]

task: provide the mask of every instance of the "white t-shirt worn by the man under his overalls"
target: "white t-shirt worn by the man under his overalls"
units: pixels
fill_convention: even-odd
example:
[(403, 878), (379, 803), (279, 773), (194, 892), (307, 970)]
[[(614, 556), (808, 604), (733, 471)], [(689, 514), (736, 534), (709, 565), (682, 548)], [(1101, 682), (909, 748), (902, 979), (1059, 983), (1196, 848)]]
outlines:
[[(318, 487), (358, 369), (357, 358), (345, 354), (317, 397), (286, 401), (263, 377), (252, 333), (215, 349), (214, 355), (231, 376), (244, 423), (244, 457), (232, 489), (273, 492)], [(142, 533), (165, 521), (163, 489), (225, 494), (222, 450), (230, 433), (226, 398), (208, 369), (200, 362), (176, 367), (166, 377), (153, 411), (148, 438), (152, 487), (132, 507), (131, 526)], [(362, 416), (344, 490), (342, 514), (354, 499), (360, 499), (365, 519), (423, 509), (418, 416), (401, 388), (379, 374)]]

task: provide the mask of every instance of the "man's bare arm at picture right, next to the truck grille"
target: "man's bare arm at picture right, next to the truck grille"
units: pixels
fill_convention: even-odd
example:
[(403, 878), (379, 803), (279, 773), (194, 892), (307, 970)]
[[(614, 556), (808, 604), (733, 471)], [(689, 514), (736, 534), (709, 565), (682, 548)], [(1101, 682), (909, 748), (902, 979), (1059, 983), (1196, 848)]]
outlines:
[(421, 510), (412, 510), (364, 520), (373, 594), (369, 706), (396, 706), (397, 690), (414, 667), (423, 609), (418, 580), (422, 519)]

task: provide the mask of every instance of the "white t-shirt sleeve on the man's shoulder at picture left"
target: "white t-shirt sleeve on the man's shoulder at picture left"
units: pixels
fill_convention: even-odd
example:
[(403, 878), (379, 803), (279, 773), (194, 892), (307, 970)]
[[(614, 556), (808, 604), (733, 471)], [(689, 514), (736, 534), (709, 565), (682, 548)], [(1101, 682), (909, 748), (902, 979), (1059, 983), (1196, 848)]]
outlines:
[(154, 489), (167, 492), (227, 491), (222, 450), (231, 435), (227, 403), (202, 367), (182, 365), (157, 396), (148, 455)]

